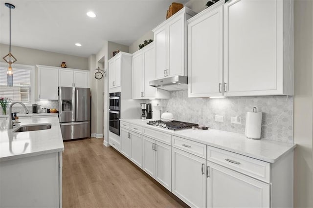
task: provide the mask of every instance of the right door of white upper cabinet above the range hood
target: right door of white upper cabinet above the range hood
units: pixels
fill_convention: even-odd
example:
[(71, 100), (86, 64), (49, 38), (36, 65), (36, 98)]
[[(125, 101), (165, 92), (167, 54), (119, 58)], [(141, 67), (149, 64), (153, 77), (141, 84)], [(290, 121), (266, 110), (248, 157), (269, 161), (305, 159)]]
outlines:
[(168, 76), (185, 75), (185, 28), (184, 15), (176, 17), (167, 25)]

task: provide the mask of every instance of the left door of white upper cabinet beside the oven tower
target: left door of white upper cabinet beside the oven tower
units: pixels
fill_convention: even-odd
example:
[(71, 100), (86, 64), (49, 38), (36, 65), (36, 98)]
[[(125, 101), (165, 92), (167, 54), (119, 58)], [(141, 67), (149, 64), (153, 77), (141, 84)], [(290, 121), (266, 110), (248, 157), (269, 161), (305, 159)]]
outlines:
[(143, 56), (142, 51), (133, 56), (133, 99), (141, 99), (143, 92)]

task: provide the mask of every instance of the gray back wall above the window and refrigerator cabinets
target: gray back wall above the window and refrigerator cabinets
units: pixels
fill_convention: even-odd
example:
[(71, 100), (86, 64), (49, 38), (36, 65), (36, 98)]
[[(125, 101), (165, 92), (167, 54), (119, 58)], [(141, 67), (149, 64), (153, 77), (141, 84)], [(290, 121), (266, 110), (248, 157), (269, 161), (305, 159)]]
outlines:
[[(4, 62), (4, 57), (9, 52), (9, 45), (0, 43), (0, 62)], [(11, 46), (11, 52), (18, 60), (16, 63), (26, 65), (47, 65), (60, 67), (61, 62), (67, 63), (67, 68), (88, 70), (88, 58), (42, 51), (31, 48)]]

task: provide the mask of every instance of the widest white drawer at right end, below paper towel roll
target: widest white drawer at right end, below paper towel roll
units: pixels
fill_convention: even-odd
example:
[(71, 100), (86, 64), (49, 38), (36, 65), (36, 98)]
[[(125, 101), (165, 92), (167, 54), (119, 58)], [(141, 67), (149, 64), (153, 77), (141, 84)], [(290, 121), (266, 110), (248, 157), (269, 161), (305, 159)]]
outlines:
[(207, 146), (207, 160), (270, 183), (270, 164), (244, 155)]

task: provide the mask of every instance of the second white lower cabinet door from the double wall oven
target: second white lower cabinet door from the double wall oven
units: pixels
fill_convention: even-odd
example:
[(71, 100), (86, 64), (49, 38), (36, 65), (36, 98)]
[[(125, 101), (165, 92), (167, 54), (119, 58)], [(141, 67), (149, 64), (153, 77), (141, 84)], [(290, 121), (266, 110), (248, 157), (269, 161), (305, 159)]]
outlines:
[(131, 161), (142, 168), (142, 135), (131, 133)]

